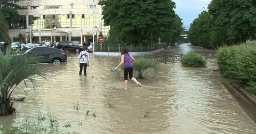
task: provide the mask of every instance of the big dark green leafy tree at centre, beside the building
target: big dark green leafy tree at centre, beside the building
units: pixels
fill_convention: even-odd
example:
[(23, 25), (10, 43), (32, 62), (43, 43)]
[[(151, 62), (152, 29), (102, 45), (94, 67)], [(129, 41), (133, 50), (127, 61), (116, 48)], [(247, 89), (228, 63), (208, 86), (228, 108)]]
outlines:
[(102, 0), (99, 4), (104, 24), (110, 26), (110, 37), (115, 35), (129, 45), (156, 42), (170, 32), (176, 35), (181, 28), (181, 19), (173, 10), (175, 3), (170, 0)]

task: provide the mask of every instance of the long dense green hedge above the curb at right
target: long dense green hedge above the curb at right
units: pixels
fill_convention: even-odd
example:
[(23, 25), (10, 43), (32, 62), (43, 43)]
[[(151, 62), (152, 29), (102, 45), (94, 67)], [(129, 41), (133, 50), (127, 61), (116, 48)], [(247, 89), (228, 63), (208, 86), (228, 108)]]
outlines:
[(221, 47), (217, 60), (223, 77), (249, 83), (256, 93), (256, 44)]

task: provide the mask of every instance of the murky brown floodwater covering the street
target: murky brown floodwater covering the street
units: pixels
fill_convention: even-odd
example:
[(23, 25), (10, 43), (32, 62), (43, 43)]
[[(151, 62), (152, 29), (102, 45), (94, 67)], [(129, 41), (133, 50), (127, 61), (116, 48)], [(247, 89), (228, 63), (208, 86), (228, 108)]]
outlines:
[[(182, 44), (166, 51), (208, 50)], [(123, 72), (110, 72), (119, 57), (91, 57), (85, 77), (78, 76), (78, 54), (67, 56), (67, 63), (43, 64), (49, 82), (41, 80), (37, 92), (27, 88), (26, 96), (21, 88), (15, 90), (13, 95), (26, 96), (25, 102), (15, 102), (17, 114), (1, 116), (0, 125), (17, 126), (50, 109), (61, 127), (71, 124), (62, 127), (71, 133), (256, 133), (256, 124), (221, 85), (219, 72), (212, 71), (218, 68), (216, 59), (207, 60), (206, 68), (158, 64), (156, 74), (149, 69), (139, 80), (142, 87), (129, 80), (125, 89)]]

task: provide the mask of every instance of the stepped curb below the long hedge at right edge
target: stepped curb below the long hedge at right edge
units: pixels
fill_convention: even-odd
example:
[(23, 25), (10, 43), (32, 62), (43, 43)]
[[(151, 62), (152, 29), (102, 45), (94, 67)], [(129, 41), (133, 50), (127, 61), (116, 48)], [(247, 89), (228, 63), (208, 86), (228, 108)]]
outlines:
[(221, 81), (221, 83), (256, 123), (256, 99), (253, 97), (253, 95), (245, 89), (238, 88), (232, 82)]

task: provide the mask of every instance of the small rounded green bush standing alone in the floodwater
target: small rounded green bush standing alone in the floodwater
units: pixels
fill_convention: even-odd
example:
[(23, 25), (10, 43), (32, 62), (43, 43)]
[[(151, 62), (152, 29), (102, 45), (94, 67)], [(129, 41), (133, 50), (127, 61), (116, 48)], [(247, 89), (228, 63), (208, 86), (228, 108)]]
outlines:
[(182, 57), (181, 64), (183, 66), (205, 67), (206, 61), (204, 61), (201, 54), (189, 52), (188, 54), (186, 54)]

